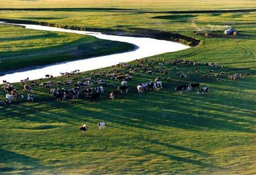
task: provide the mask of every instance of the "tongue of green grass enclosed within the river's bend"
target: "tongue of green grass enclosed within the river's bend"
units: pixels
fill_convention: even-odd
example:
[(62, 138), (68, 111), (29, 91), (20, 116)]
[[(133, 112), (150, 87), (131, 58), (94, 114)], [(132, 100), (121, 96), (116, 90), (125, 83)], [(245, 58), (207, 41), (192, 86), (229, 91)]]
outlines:
[(132, 44), (74, 33), (0, 25), (0, 73), (132, 50)]

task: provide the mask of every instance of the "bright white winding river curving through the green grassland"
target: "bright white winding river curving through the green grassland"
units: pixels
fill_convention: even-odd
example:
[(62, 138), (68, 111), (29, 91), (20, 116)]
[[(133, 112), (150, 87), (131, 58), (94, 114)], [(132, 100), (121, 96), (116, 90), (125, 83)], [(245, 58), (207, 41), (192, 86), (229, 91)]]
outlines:
[[(8, 23), (6, 23), (8, 24)], [(60, 72), (71, 72), (75, 69), (80, 71), (88, 71), (93, 69), (104, 68), (112, 66), (119, 62), (129, 62), (135, 59), (140, 59), (148, 56), (163, 54), (166, 52), (175, 52), (189, 48), (189, 46), (166, 40), (156, 40), (152, 38), (139, 38), (139, 37), (126, 37), (126, 36), (115, 36), (106, 35), (99, 32), (87, 32), (87, 31), (76, 31), (68, 30), (56, 27), (38, 26), (38, 25), (27, 25), (27, 24), (12, 24), (25, 26), (28, 29), (44, 30), (44, 31), (56, 31), (56, 32), (68, 32), (77, 33), (83, 35), (91, 35), (99, 39), (113, 40), (127, 42), (136, 45), (136, 49), (124, 53), (117, 53), (112, 55), (98, 56), (93, 58), (87, 58), (77, 61), (60, 62), (56, 64), (41, 66), (39, 68), (31, 68), (26, 70), (16, 70), (7, 72), (6, 75), (0, 77), (0, 84), (2, 80), (7, 80), (10, 83), (19, 82), (21, 79), (29, 77), (30, 80), (39, 79), (45, 77), (46, 74), (51, 74), (54, 77), (60, 76)], [(18, 32), (18, 31), (17, 31)]]

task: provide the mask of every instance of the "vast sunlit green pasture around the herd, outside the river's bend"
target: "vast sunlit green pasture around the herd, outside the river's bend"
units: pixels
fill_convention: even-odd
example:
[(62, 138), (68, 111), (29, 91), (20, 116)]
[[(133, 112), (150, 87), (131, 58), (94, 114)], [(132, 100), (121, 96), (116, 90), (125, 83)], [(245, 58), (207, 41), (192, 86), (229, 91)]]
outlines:
[[(199, 0), (193, 3), (185, 0), (179, 3), (162, 1), (162, 4), (149, 0), (136, 3), (122, 1), (122, 4), (113, 4), (112, 0), (106, 0), (102, 4), (93, 4), (92, 1), (72, 1), (72, 4), (67, 1), (62, 3), (64, 5), (59, 5), (58, 1), (47, 2), (12, 0), (9, 4), (6, 1), (0, 1), (0, 4), (1, 8), (114, 7), (144, 11), (255, 8), (254, 1), (249, 0), (232, 1), (230, 4), (227, 4), (228, 1), (205, 3)], [(194, 66), (180, 65), (173, 69), (173, 65), (164, 65), (161, 69), (170, 69), (168, 77), (171, 80), (163, 80), (163, 91), (147, 91), (138, 95), (135, 89), (137, 84), (160, 76), (159, 73), (155, 76), (142, 73), (141, 77), (133, 76), (128, 82), (128, 94), (109, 100), (109, 91), (114, 88), (106, 87), (101, 100), (93, 103), (83, 94), (79, 99), (56, 102), (48, 90), (36, 87), (33, 92), (35, 102), (14, 100), (11, 105), (0, 107), (0, 172), (255, 174), (255, 16), (255, 11), (189, 14), (102, 10), (0, 11), (0, 18), (96, 28), (129, 30), (130, 27), (138, 27), (177, 32), (200, 39), (200, 45), (151, 58), (157, 60), (160, 57), (159, 62), (163, 62), (163, 58), (185, 59), (217, 62), (225, 66), (224, 70), (214, 70), (212, 74), (207, 73), (210, 68), (198, 66), (201, 73), (196, 74)], [(208, 38), (192, 34), (195, 30), (216, 29), (217, 32), (223, 32), (228, 26), (235, 27), (239, 31), (238, 35)], [(73, 38), (63, 33), (34, 32), (31, 36), (61, 35), (58, 40), (67, 39), (72, 43), (80, 37), (86, 37), (76, 35), (77, 38)], [(36, 46), (38, 49), (42, 47), (35, 44)], [(156, 67), (159, 67), (158, 64)], [(108, 70), (111, 68), (94, 72)], [(193, 73), (187, 74), (187, 79), (180, 79), (176, 76), (178, 71)], [(222, 77), (225, 82), (217, 82), (214, 77), (220, 71), (226, 74)], [(229, 80), (227, 77), (245, 72), (250, 72), (253, 76), (244, 77), (240, 81)], [(203, 74), (208, 74), (210, 78), (202, 78)], [(89, 76), (89, 73), (83, 76)], [(64, 79), (62, 77), (60, 80)], [(54, 78), (54, 81), (59, 80)], [(106, 81), (116, 86), (119, 84), (110, 79)], [(196, 91), (175, 94), (174, 88), (177, 85), (188, 83), (209, 86), (211, 94), (196, 95)], [(19, 92), (24, 92), (20, 84), (14, 84), (14, 87)], [(0, 100), (4, 100), (5, 94), (3, 90), (0, 91)], [(96, 124), (102, 121), (106, 122), (106, 129), (100, 132)], [(86, 136), (79, 131), (84, 123), (89, 127)]]

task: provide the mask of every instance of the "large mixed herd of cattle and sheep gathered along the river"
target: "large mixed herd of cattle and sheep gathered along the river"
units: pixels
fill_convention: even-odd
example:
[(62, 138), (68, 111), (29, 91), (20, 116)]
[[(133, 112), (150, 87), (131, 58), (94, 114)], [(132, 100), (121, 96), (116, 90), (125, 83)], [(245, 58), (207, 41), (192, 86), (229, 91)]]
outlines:
[[(158, 61), (160, 59), (158, 58)], [(102, 77), (106, 77), (111, 80), (117, 80), (118, 82), (121, 82), (120, 86), (117, 87), (117, 89), (114, 89), (110, 91), (110, 99), (115, 99), (116, 94), (126, 94), (128, 93), (128, 81), (132, 79), (132, 76), (141, 76), (142, 73), (146, 73), (147, 75), (155, 75), (156, 73), (161, 74), (161, 76), (156, 77), (154, 81), (149, 81), (146, 83), (140, 83), (136, 86), (136, 89), (139, 94), (142, 94), (144, 91), (161, 91), (163, 89), (163, 82), (162, 80), (168, 81), (171, 79), (171, 77), (162, 77), (162, 75), (170, 75), (169, 69), (162, 70), (161, 68), (155, 68), (156, 65), (163, 66), (164, 63), (159, 62), (158, 64), (155, 63), (154, 59), (136, 59), (134, 60), (136, 63), (134, 65), (130, 65), (128, 63), (119, 63), (115, 66), (122, 69), (114, 69), (115, 66), (112, 66), (111, 71), (100, 71), (98, 73), (94, 73), (93, 71), (90, 72), (90, 77), (83, 77), (82, 79), (78, 79), (78, 77), (74, 77), (78, 74), (79, 70), (75, 70), (72, 72), (66, 72), (66, 73), (60, 73), (61, 76), (65, 76), (66, 80), (61, 82), (58, 81), (55, 83), (53, 80), (47, 81), (47, 82), (36, 82), (35, 80), (30, 81), (29, 78), (20, 80), (20, 84), (23, 86), (25, 92), (28, 93), (27, 99), (28, 101), (33, 101), (35, 98), (34, 95), (31, 93), (33, 92), (33, 88), (38, 84), (39, 88), (45, 88), (49, 89), (51, 96), (57, 100), (57, 101), (64, 101), (66, 98), (76, 99), (79, 97), (80, 92), (84, 93), (85, 98), (89, 98), (90, 101), (98, 100), (101, 95), (104, 94), (104, 87), (115, 87), (115, 84), (113, 83), (106, 83), (105, 80)], [(163, 59), (163, 61), (165, 61)], [(209, 70), (208, 73), (212, 73), (214, 69), (218, 69), (219, 65), (216, 63), (196, 63), (196, 61), (186, 61), (186, 60), (174, 60), (174, 61), (166, 61), (166, 65), (173, 64), (173, 69), (177, 69), (177, 66), (180, 64), (182, 65), (188, 65), (188, 66), (198, 66), (198, 65), (204, 65), (212, 68), (212, 70)], [(133, 68), (132, 68), (133, 67)], [(221, 66), (221, 69), (224, 69), (224, 66)], [(198, 67), (195, 67), (195, 73), (200, 73), (200, 70)], [(80, 73), (81, 75), (84, 75), (84, 73)], [(188, 74), (191, 74), (191, 72), (188, 72)], [(182, 72), (176, 72), (176, 75), (178, 75), (180, 78), (187, 78), (187, 75)], [(217, 77), (217, 81), (224, 81), (220, 77), (224, 76), (224, 72), (216, 73), (215, 77)], [(245, 74), (235, 74), (232, 76), (228, 76), (228, 78), (232, 80), (240, 80), (241, 77), (244, 76), (250, 76), (250, 73)], [(74, 78), (72, 78), (72, 76)], [(53, 78), (52, 75), (45, 75), (46, 78)], [(209, 78), (207, 74), (202, 75), (203, 78)], [(57, 79), (60, 77), (57, 77)], [(43, 81), (43, 78), (40, 78), (39, 81)], [(8, 83), (7, 81), (3, 81), (4, 86), (2, 87), (4, 91), (7, 91), (6, 94), (6, 102), (11, 103), (12, 99), (23, 99), (24, 94), (18, 93), (18, 91), (13, 87), (12, 84)], [(58, 88), (56, 88), (58, 86)], [(67, 88), (69, 87), (69, 89)], [(196, 94), (204, 94), (205, 92), (208, 92), (210, 94), (210, 88), (209, 87), (200, 87), (199, 83), (196, 84), (184, 84), (177, 86), (175, 88), (175, 91), (177, 94), (181, 94), (182, 91), (192, 91), (196, 89)], [(5, 106), (6, 103), (4, 101), (0, 101), (0, 106)]]

